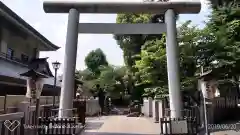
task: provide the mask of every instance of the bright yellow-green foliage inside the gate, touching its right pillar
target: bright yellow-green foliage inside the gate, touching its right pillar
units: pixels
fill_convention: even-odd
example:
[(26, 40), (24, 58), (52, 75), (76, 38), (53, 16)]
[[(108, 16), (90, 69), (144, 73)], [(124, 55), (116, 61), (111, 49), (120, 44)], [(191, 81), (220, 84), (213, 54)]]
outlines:
[(167, 83), (165, 36), (161, 40), (149, 40), (140, 54), (141, 59), (136, 61), (136, 68), (140, 77), (138, 83), (151, 85), (165, 85)]

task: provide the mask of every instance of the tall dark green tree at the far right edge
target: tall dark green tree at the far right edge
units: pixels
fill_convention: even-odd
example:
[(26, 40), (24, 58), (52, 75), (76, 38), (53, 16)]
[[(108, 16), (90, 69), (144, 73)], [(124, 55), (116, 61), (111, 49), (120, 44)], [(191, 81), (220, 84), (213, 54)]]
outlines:
[[(240, 68), (240, 8), (237, 1), (222, 1), (214, 5), (205, 28), (208, 40), (202, 40), (202, 66), (218, 72), (219, 79), (231, 80), (239, 91)], [(206, 38), (207, 36), (205, 36)], [(209, 42), (210, 41), (210, 42)]]

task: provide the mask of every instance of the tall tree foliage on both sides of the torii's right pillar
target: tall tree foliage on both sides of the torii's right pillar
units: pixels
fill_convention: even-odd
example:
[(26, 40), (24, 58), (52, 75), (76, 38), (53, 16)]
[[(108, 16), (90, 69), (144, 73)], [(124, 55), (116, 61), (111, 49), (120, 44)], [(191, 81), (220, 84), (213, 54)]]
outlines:
[[(214, 5), (215, 4), (215, 5)], [(190, 21), (178, 27), (181, 90), (196, 90), (196, 74), (219, 68), (228, 78), (238, 78), (240, 68), (240, 9), (233, 2), (213, 3), (213, 12), (204, 29)], [(151, 15), (119, 14), (118, 23), (149, 22)], [(133, 73), (134, 84), (150, 84), (145, 94), (166, 91), (167, 67), (164, 35), (116, 35), (124, 51), (125, 63)], [(236, 79), (235, 79), (236, 80)], [(160, 92), (161, 93), (161, 92)]]

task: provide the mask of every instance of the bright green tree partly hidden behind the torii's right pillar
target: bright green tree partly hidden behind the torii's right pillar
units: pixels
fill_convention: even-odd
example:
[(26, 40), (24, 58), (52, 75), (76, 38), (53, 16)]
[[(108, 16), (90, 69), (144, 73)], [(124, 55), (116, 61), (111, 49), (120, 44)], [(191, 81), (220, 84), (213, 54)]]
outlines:
[[(182, 90), (194, 90), (197, 87), (196, 51), (201, 30), (190, 24), (191, 21), (187, 21), (178, 27)], [(151, 85), (151, 89), (146, 89), (147, 93), (165, 94), (168, 89), (165, 35), (161, 39), (146, 41), (142, 46), (140, 57), (141, 59), (136, 61), (136, 68), (139, 71), (137, 74), (140, 76), (138, 83)]]

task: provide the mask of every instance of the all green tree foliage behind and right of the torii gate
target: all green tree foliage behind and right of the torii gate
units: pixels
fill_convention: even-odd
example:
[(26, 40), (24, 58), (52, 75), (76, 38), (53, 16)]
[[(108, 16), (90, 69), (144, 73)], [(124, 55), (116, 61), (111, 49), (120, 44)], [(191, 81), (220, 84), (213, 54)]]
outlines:
[[(199, 29), (191, 21), (177, 28), (183, 91), (197, 89), (196, 74), (200, 72), (200, 67), (204, 67), (205, 71), (215, 70), (221, 83), (232, 82), (232, 85), (227, 86), (239, 88), (240, 8), (234, 0), (221, 1), (220, 5), (212, 3), (212, 7), (205, 28)], [(118, 14), (117, 23), (148, 23), (157, 16)], [(94, 84), (99, 83), (111, 94), (127, 90), (131, 94), (142, 95), (144, 89), (144, 96), (166, 95), (168, 77), (165, 34), (115, 35), (114, 38), (123, 50), (126, 66), (109, 65), (104, 53), (97, 49), (85, 59), (88, 68), (78, 71), (76, 75), (86, 81), (89, 87), (93, 88)]]

